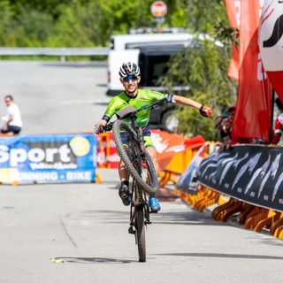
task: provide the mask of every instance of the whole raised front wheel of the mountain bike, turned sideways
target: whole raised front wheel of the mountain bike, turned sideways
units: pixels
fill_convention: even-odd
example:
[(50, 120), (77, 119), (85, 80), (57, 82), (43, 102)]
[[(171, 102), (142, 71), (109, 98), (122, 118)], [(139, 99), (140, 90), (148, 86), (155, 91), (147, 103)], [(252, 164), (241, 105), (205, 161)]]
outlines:
[[(121, 131), (126, 133), (129, 153), (122, 142)], [(134, 129), (124, 120), (117, 120), (113, 124), (112, 132), (119, 157), (123, 160), (136, 185), (149, 195), (155, 195), (158, 188), (157, 173), (148, 152), (141, 149)]]

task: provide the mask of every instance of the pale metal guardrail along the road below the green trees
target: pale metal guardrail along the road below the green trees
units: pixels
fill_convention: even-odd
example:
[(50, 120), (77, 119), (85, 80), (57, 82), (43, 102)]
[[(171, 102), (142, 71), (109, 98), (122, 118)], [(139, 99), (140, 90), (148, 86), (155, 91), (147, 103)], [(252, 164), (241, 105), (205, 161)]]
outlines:
[(29, 48), (29, 47), (2, 47), (0, 56), (58, 56), (65, 61), (67, 56), (108, 56), (110, 48)]

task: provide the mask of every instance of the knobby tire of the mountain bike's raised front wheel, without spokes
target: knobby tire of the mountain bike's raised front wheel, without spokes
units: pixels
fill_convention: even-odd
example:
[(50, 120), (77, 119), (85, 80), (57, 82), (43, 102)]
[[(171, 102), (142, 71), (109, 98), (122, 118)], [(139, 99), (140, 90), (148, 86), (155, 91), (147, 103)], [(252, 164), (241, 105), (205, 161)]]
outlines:
[(146, 182), (147, 180), (142, 179), (142, 173), (139, 172), (138, 169), (134, 167), (133, 160), (131, 160), (130, 157), (128, 156), (126, 149), (123, 145), (123, 142), (121, 140), (121, 136), (120, 136), (121, 131), (126, 132), (128, 139), (130, 139), (132, 143), (135, 144), (135, 146), (133, 146), (133, 144), (131, 144), (131, 141), (129, 141), (128, 146), (134, 147), (134, 151), (137, 154), (141, 153), (141, 149), (139, 149), (138, 146), (139, 142), (137, 141), (137, 136), (132, 126), (128, 125), (124, 120), (116, 120), (113, 124), (112, 132), (114, 135), (114, 142), (116, 144), (116, 149), (119, 154), (119, 157), (123, 160), (127, 171), (135, 180), (136, 185), (141, 189), (145, 190), (149, 195), (155, 195), (157, 193), (157, 188), (158, 188), (157, 173), (149, 157), (149, 154), (147, 153), (147, 151), (145, 151), (144, 152), (145, 158), (143, 159), (149, 171), (149, 184), (148, 184)]

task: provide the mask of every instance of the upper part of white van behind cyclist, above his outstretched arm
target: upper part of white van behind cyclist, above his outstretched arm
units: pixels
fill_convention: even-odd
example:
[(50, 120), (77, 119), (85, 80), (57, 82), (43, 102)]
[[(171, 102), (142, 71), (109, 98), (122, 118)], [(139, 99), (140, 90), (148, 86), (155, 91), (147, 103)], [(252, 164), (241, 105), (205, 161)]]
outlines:
[[(167, 30), (166, 30), (167, 31)], [(115, 96), (123, 90), (119, 81), (119, 67), (134, 62), (141, 67), (142, 88), (159, 89), (157, 80), (164, 75), (170, 56), (187, 47), (194, 36), (178, 29), (159, 34), (120, 34), (111, 36), (108, 55), (107, 96)]]

